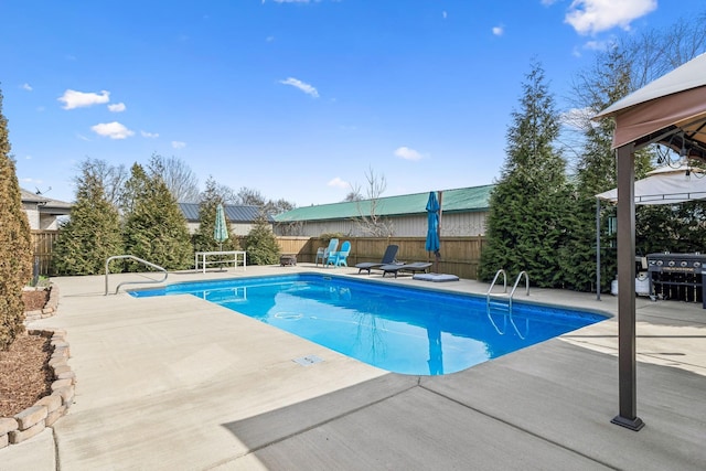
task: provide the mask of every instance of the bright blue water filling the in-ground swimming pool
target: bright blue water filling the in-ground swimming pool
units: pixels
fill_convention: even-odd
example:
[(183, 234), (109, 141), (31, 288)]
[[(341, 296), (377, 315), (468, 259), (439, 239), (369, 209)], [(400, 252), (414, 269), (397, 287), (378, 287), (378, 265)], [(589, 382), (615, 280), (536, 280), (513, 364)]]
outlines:
[(543, 342), (606, 317), (484, 297), (321, 275), (253, 277), (132, 290), (193, 295), (403, 374), (441, 375)]

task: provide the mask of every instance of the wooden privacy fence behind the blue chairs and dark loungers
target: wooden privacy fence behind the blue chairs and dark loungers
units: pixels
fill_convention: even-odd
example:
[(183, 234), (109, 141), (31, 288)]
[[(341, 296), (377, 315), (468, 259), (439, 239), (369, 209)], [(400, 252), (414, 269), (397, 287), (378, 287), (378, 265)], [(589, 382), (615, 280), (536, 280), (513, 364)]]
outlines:
[[(317, 249), (329, 245), (329, 240), (317, 237), (277, 237), (282, 254), (296, 254), (298, 261), (313, 263)], [(347, 263), (352, 267), (361, 261), (379, 261), (389, 244), (399, 246), (397, 259), (402, 261), (435, 261), (434, 254), (425, 250), (426, 237), (343, 237), (351, 242), (351, 255)], [(439, 272), (456, 275), (460, 278), (477, 279), (481, 260), (481, 250), (485, 238), (441, 237), (441, 258)]]

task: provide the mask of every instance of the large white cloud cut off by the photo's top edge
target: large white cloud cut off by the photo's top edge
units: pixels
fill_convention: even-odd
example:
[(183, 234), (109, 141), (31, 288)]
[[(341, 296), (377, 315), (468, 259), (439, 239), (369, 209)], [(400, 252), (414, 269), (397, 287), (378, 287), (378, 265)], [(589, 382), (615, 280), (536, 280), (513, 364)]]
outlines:
[(657, 8), (656, 0), (574, 0), (564, 21), (579, 34), (592, 34), (630, 23)]

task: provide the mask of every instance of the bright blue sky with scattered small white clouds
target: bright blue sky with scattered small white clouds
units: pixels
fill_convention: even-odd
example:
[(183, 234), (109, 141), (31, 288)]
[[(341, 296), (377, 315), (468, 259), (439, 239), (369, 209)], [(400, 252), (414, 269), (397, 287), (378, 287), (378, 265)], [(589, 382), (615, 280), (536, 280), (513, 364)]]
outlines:
[[(73, 201), (89, 157), (178, 157), (298, 206), (493, 183), (533, 60), (559, 109), (611, 39), (703, 0), (3, 0), (21, 186)], [(680, 6), (675, 9), (674, 6)]]

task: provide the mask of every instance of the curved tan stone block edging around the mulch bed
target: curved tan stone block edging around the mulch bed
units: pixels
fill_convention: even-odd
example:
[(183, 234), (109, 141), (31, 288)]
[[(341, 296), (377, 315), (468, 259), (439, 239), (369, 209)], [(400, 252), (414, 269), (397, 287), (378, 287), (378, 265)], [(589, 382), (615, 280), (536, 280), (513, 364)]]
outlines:
[[(52, 299), (53, 298), (53, 299)], [(26, 313), (25, 322), (43, 319), (54, 314), (58, 300), (58, 290), (54, 287), (44, 309)], [(42, 397), (32, 407), (28, 407), (14, 417), (0, 417), (0, 448), (9, 445), (20, 443), (40, 433), (62, 416), (68, 413), (68, 408), (74, 404), (76, 375), (68, 366), (71, 351), (66, 342), (66, 331), (64, 330), (33, 330), (31, 335), (42, 335), (51, 339), (52, 355), (49, 366), (54, 373), (52, 393)]]

